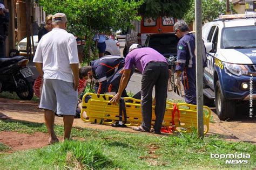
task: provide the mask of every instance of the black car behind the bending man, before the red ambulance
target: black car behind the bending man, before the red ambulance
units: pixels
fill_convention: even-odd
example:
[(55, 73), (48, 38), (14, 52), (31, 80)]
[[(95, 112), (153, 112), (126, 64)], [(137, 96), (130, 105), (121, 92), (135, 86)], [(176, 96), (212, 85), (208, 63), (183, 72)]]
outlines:
[(157, 33), (147, 35), (145, 47), (156, 49), (165, 58), (177, 55), (179, 38), (174, 33)]

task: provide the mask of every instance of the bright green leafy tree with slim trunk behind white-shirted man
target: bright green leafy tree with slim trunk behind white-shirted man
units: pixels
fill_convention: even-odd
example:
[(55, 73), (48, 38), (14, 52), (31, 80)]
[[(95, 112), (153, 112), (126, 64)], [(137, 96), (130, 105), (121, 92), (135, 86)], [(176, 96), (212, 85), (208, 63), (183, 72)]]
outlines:
[(127, 26), (131, 26), (131, 20), (140, 20), (137, 14), (142, 3), (142, 0), (39, 0), (46, 13), (65, 13), (68, 32), (87, 37), (88, 55), (96, 32), (107, 34), (119, 29), (126, 30)]

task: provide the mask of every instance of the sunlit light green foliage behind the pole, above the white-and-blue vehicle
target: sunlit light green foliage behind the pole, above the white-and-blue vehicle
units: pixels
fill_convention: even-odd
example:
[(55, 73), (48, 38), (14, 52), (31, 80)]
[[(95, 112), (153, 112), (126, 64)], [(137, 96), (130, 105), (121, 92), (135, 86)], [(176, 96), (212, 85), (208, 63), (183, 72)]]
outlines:
[[(194, 0), (191, 1), (191, 8), (187, 11), (184, 20), (192, 24), (195, 20), (194, 17)], [(236, 13), (233, 9), (232, 3), (230, 3), (230, 11), (231, 13)], [(219, 1), (219, 0), (203, 0), (202, 1), (202, 22), (203, 24), (206, 22), (211, 22), (214, 19), (218, 18), (219, 15), (226, 13), (226, 1)]]

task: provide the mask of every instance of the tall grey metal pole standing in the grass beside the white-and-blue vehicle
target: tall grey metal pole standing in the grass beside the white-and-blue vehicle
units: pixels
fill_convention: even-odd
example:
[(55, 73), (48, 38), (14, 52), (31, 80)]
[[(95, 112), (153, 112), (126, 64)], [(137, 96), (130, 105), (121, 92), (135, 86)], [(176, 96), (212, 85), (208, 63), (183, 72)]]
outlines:
[(203, 114), (203, 40), (202, 40), (202, 1), (196, 0), (196, 67), (197, 67), (197, 132), (204, 137)]

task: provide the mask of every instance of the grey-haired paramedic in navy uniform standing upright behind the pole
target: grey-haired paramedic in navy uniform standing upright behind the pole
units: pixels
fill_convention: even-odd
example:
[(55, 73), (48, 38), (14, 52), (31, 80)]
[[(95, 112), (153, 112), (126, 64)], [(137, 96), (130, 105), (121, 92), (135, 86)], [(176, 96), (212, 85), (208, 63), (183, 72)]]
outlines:
[[(176, 86), (180, 87), (181, 81), (185, 91), (185, 101), (189, 104), (197, 104), (196, 89), (196, 39), (184, 21), (174, 24), (174, 32), (180, 38), (177, 45), (177, 65), (176, 65)], [(206, 67), (206, 53), (203, 51), (203, 67)], [(203, 70), (202, 70), (203, 72)]]

